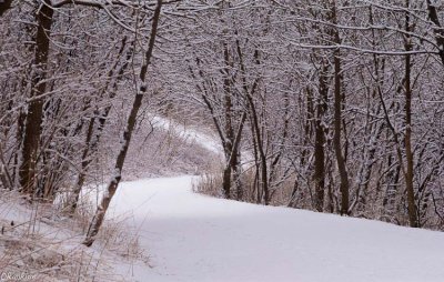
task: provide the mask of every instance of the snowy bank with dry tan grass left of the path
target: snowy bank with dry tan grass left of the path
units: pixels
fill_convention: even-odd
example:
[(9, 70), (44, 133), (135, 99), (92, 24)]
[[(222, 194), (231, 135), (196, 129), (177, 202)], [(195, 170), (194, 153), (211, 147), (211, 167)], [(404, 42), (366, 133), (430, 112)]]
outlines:
[(81, 244), (92, 204), (82, 203), (68, 218), (51, 204), (29, 204), (2, 191), (0, 207), (0, 274), (27, 275), (11, 281), (124, 281), (113, 274), (119, 260), (147, 261), (125, 219), (107, 220), (93, 248)]

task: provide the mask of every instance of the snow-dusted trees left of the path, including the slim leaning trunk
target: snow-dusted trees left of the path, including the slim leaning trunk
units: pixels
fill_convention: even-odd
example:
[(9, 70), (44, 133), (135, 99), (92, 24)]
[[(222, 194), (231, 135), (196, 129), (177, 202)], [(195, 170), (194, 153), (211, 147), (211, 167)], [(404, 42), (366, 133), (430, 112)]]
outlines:
[[(164, 2), (175, 9), (175, 1)], [(1, 187), (31, 202), (62, 194), (63, 211), (72, 215), (88, 179), (111, 175), (85, 245), (93, 243), (121, 180), (137, 119), (147, 115), (148, 103), (153, 114), (159, 109), (159, 85), (149, 67), (162, 4), (44, 0), (0, 6)], [(103, 172), (101, 157), (115, 128), (121, 132), (114, 165)]]

